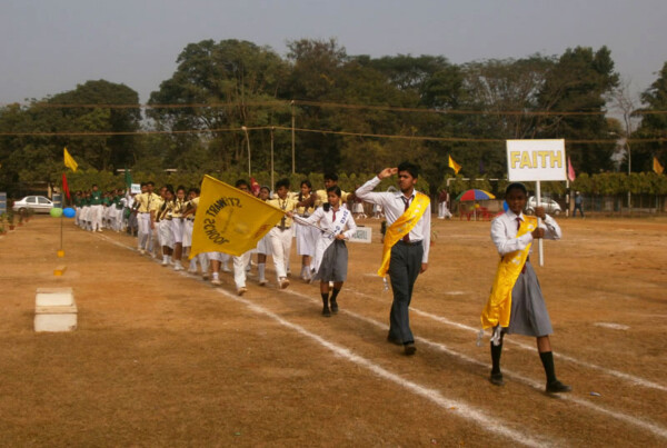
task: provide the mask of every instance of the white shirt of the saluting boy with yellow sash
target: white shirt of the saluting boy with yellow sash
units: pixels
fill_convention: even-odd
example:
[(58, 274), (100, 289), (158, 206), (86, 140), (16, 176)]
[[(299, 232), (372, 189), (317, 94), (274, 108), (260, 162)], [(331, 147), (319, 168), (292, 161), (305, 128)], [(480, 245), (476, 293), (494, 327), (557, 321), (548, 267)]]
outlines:
[[(372, 190), (380, 183), (380, 178), (377, 176), (364, 183), (355, 191), (357, 198), (362, 199), (367, 202), (377, 203), (382, 206), (385, 216), (387, 217), (387, 226), (391, 226), (402, 213), (406, 212), (406, 205), (404, 202), (404, 193), (398, 192), (372, 192)], [(415, 198), (417, 190), (412, 191), (410, 202)], [(424, 256), (421, 262), (428, 262), (428, 252), (430, 249), (430, 203), (426, 208), (426, 211), (421, 216), (421, 219), (412, 227), (409, 237), (410, 241), (417, 242), (422, 241)]]

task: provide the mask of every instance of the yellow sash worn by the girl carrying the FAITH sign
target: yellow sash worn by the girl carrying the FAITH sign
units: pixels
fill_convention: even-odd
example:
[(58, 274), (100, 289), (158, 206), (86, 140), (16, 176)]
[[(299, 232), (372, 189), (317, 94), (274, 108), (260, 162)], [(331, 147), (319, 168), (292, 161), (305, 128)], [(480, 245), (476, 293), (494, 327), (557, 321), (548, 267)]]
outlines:
[[(517, 238), (526, 235), (537, 228), (537, 218), (524, 216), (524, 221), (517, 231)], [(481, 311), (481, 327), (491, 328), (500, 323), (500, 327), (509, 326), (509, 315), (511, 312), (511, 290), (524, 269), (529, 243), (524, 250), (517, 250), (506, 253), (498, 262), (496, 279), (491, 289), (491, 296), (487, 301), (484, 311)]]

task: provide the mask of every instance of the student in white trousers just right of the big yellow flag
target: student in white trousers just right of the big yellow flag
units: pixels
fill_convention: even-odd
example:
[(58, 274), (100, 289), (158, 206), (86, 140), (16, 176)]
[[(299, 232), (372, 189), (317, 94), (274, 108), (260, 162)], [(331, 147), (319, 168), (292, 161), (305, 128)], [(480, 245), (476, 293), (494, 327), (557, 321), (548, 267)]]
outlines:
[[(268, 201), (270, 206), (273, 206), (285, 212), (296, 210), (302, 206), (309, 206), (311, 199), (303, 202), (299, 202), (298, 199), (289, 197), (289, 179), (280, 179), (276, 182), (276, 199)], [(269, 239), (271, 241), (271, 255), (273, 257), (273, 266), (276, 267), (276, 276), (278, 277), (278, 286), (280, 289), (285, 289), (289, 286), (287, 279), (287, 272), (289, 271), (289, 255), (291, 251), (291, 239), (292, 239), (292, 219), (285, 215), (280, 222), (269, 231)]]

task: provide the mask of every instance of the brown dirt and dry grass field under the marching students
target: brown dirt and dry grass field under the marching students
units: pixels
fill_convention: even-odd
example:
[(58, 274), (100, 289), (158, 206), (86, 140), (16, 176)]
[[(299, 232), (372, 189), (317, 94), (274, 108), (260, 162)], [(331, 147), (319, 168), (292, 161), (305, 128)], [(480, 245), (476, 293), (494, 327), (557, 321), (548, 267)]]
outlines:
[[(237, 297), (230, 275), (213, 288), (71, 221), (58, 259), (59, 220), (33, 218), (0, 237), (0, 445), (666, 446), (667, 219), (559, 222), (545, 267), (532, 256), (574, 388), (554, 398), (530, 338), (506, 339), (506, 385), (488, 381), (489, 222), (434, 221), (406, 357), (386, 341), (377, 220), (326, 319), (316, 285), (250, 277)], [(36, 289), (53, 286), (73, 288), (79, 328), (34, 333)]]

